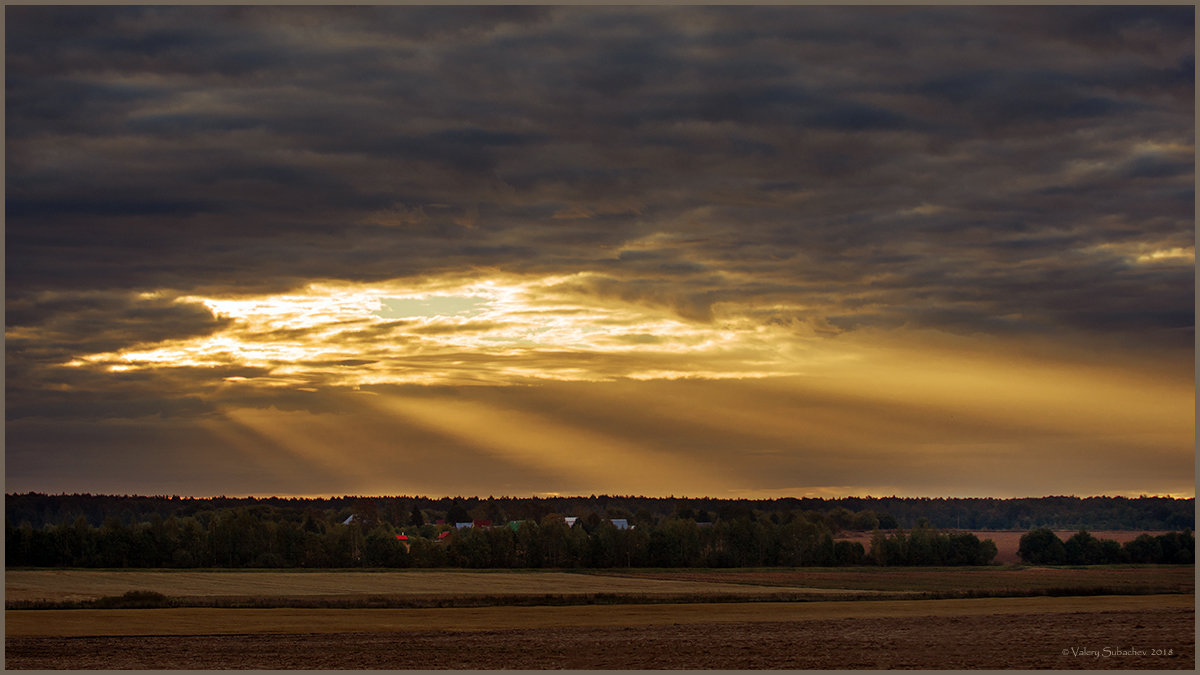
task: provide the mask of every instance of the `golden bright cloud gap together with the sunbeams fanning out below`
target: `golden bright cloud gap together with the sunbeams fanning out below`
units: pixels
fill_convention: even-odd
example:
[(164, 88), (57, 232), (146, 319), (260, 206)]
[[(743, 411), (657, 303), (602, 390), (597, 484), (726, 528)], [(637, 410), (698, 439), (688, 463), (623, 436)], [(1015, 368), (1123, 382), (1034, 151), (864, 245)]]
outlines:
[[(444, 447), (498, 467), (496, 483), (479, 488), (497, 494), (535, 491), (521, 488), (529, 477), (547, 488), (536, 491), (562, 494), (758, 497), (937, 495), (914, 488), (926, 479), (954, 482), (960, 496), (1019, 496), (1054, 492), (1068, 473), (1096, 474), (1106, 494), (1126, 494), (1122, 482), (1140, 473), (1159, 492), (1190, 484), (1162, 473), (1194, 443), (1188, 374), (1102, 354), (1043, 358), (1031, 340), (820, 338), (731, 304), (695, 321), (580, 293), (582, 276), (188, 295), (175, 301), (224, 323), (65, 365), (121, 375), (245, 368), (254, 370), (223, 376), (224, 386), (352, 396), (354, 413), (230, 404), (200, 429), (259, 471), (379, 494), (433, 489), (444, 476), (422, 474), (430, 460), (413, 455)], [(467, 387), (476, 396), (414, 384), (491, 387)], [(1114, 472), (1129, 447), (1144, 466)]]

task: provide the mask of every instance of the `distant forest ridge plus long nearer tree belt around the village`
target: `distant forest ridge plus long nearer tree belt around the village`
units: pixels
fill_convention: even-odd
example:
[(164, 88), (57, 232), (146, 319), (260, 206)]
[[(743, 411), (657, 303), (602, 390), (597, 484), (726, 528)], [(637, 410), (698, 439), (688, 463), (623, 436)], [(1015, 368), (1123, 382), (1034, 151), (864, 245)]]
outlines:
[[(1158, 497), (752, 501), (25, 494), (6, 495), (5, 551), (10, 567), (988, 565), (996, 556), (991, 540), (942, 530), (1004, 518), (1009, 526), (1088, 521), (1111, 528), (1124, 518), (1151, 530), (1182, 524), (1190, 537), (1192, 507), (1193, 500)], [(566, 518), (575, 519), (574, 526)], [(618, 527), (614, 520), (629, 527)], [(458, 528), (458, 522), (476, 526)], [(874, 532), (869, 551), (859, 543), (835, 540), (853, 531)]]

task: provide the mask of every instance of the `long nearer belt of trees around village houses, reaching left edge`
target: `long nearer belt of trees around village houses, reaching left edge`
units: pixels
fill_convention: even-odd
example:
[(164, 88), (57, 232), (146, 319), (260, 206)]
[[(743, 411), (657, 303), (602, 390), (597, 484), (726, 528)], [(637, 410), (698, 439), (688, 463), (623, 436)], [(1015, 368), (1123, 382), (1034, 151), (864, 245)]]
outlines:
[[(410, 520), (418, 520), (415, 509)], [(835, 542), (820, 513), (787, 512), (770, 518), (697, 521), (672, 515), (620, 528), (589, 514), (574, 526), (558, 514), (455, 528), (396, 526), (370, 516), (349, 521), (272, 507), (239, 507), (197, 516), (154, 516), (125, 525), (115, 518), (95, 527), (84, 518), (34, 528), (6, 525), (12, 567), (767, 567), (840, 565), (986, 565), (990, 540), (943, 534), (920, 526), (877, 533), (877, 549)], [(401, 538), (403, 537), (403, 539)]]

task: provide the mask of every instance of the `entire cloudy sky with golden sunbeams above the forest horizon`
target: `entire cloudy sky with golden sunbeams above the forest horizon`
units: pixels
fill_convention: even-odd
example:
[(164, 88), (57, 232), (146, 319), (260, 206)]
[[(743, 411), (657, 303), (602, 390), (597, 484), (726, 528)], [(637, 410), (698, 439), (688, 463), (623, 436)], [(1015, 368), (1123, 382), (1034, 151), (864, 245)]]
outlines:
[(1194, 496), (1194, 8), (5, 7), (5, 489)]

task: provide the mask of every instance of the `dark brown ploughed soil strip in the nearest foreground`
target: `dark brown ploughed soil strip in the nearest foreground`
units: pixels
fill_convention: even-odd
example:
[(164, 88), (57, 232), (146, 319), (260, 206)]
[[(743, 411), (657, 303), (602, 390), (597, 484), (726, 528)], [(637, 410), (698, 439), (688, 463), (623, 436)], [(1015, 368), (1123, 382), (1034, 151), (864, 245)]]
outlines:
[[(8, 638), (10, 669), (1192, 669), (1190, 608), (494, 631)], [(1073, 655), (1087, 650), (1094, 655)], [(1109, 656), (1104, 650), (1111, 650)], [(1170, 650), (1158, 655), (1152, 650)], [(1127, 653), (1120, 653), (1123, 650)], [(1066, 655), (1063, 652), (1067, 652)], [(1135, 651), (1135, 653), (1129, 653)]]

